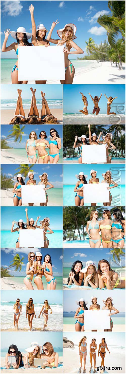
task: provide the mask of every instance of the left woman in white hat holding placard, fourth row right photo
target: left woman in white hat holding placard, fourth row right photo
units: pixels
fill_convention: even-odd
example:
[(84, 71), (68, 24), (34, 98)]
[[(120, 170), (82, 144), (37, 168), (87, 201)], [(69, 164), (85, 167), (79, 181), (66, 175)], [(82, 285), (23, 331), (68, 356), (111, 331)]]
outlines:
[(83, 184), (87, 184), (86, 178), (88, 177), (88, 175), (85, 175), (82, 171), (80, 171), (79, 174), (75, 175), (75, 177), (79, 179), (79, 181), (76, 183), (76, 186), (74, 188), (74, 192), (76, 192), (75, 205), (76, 206), (83, 206), (84, 205), (84, 187), (83, 187)]

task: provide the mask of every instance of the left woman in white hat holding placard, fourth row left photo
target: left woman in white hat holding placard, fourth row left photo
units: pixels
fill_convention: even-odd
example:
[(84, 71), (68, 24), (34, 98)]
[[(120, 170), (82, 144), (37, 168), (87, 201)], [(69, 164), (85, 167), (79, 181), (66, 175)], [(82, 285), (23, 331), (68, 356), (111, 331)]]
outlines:
[(13, 205), (14, 206), (21, 206), (22, 205), (22, 198), (21, 198), (21, 186), (25, 185), (25, 177), (22, 177), (22, 174), (18, 174), (16, 177), (13, 177), (16, 181), (15, 186), (13, 187)]

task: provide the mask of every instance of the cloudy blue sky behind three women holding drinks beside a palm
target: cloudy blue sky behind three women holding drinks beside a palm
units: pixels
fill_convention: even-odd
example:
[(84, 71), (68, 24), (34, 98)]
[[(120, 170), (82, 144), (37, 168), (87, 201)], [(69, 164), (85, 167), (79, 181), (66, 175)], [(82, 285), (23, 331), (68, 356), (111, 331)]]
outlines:
[[(56, 249), (50, 249), (50, 248), (41, 248), (38, 250), (42, 253), (42, 256), (46, 254), (49, 254), (51, 256), (52, 264), (53, 264), (53, 275), (54, 276), (62, 276), (62, 264), (63, 264), (63, 253), (61, 248), (56, 248)], [(15, 269), (10, 269), (9, 274), (13, 276), (26, 276), (26, 264), (28, 263), (28, 253), (29, 253), (29, 248), (1, 248), (1, 265), (6, 269), (11, 265), (10, 261), (13, 260), (13, 256), (16, 255), (17, 253), (19, 254), (20, 258), (24, 257), (23, 259), (23, 265), (21, 272), (15, 271)], [(35, 253), (37, 252), (37, 248), (35, 249)], [(12, 291), (13, 292), (13, 291)], [(25, 294), (25, 292), (24, 292)], [(36, 294), (36, 293), (35, 293)], [(4, 300), (4, 299), (3, 299)]]

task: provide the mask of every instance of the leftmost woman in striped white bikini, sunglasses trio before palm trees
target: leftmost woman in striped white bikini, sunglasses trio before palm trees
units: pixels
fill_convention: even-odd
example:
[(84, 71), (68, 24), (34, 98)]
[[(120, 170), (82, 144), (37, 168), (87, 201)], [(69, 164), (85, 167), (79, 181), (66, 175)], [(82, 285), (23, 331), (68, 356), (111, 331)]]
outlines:
[(100, 248), (101, 237), (99, 234), (98, 212), (92, 211), (90, 214), (90, 220), (86, 224), (86, 232), (89, 236), (89, 245), (91, 248)]

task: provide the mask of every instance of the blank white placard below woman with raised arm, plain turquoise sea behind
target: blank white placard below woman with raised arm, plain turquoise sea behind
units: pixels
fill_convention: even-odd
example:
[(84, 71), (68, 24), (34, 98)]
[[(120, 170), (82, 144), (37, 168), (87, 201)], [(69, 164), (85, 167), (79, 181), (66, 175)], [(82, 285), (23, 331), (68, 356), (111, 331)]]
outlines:
[(43, 230), (19, 230), (19, 241), (21, 248), (44, 247)]

